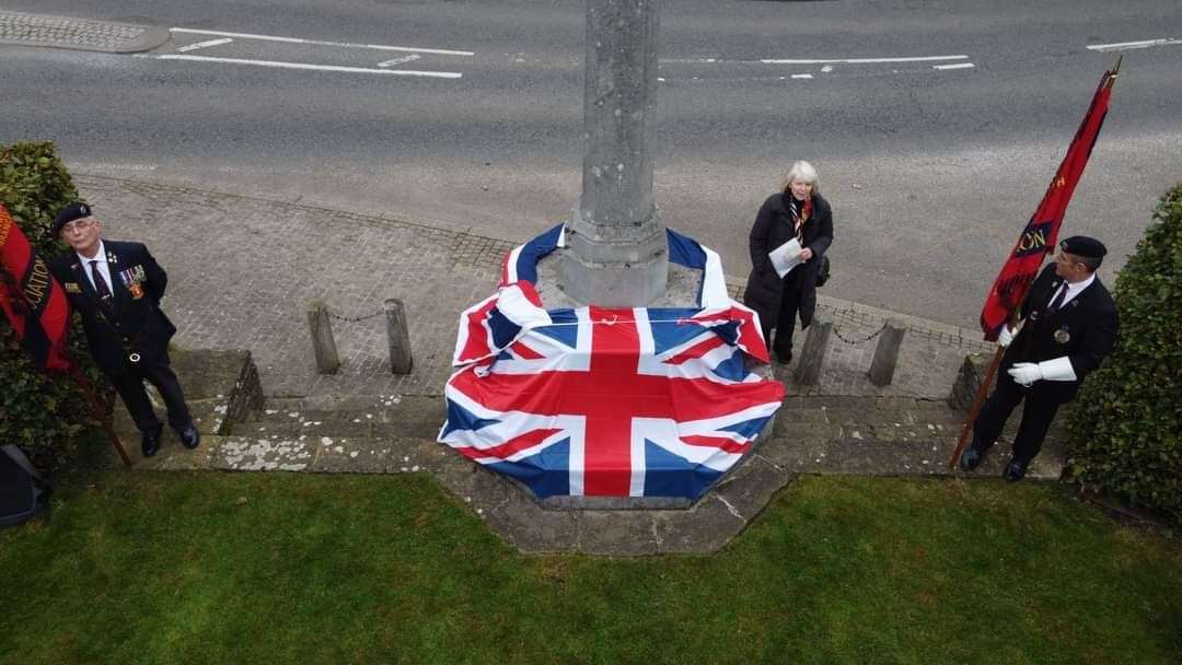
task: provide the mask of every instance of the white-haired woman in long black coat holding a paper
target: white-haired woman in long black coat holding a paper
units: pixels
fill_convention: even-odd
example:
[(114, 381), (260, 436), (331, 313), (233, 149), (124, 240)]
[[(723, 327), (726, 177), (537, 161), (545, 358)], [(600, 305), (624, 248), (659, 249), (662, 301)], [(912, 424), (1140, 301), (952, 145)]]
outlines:
[[(803, 263), (780, 276), (768, 254), (797, 240)], [(812, 322), (817, 308), (817, 270), (833, 242), (833, 213), (820, 195), (817, 169), (808, 162), (792, 164), (784, 190), (760, 207), (751, 229), (751, 275), (743, 304), (759, 313), (764, 339), (780, 363), (792, 360), (792, 331)], [(792, 256), (788, 256), (792, 259)], [(772, 341), (775, 328), (775, 341)]]

